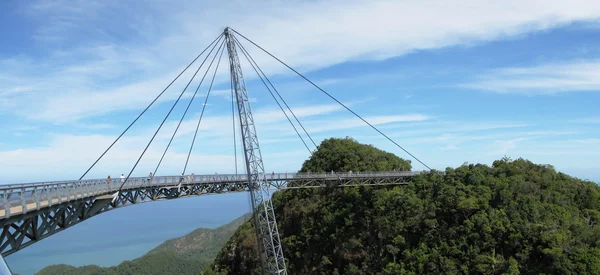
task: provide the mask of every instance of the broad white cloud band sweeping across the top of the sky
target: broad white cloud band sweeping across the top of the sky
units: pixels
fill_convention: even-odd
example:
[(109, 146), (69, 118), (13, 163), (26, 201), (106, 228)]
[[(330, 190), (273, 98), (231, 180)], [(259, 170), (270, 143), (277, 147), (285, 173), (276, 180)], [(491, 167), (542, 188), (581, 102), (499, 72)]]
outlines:
[[(152, 1), (137, 5), (135, 12), (120, 1), (38, 1), (22, 10), (35, 19), (34, 36), (49, 50), (42, 58), (0, 61), (7, 68), (0, 70), (0, 108), (67, 122), (143, 107), (226, 25), (306, 71), (502, 39), (600, 16), (600, 5), (586, 0), (568, 5), (537, 0)], [(284, 72), (246, 45), (265, 72)], [(221, 75), (226, 70), (221, 66)], [(561, 85), (596, 85), (586, 79)], [(39, 112), (22, 111), (24, 105)]]

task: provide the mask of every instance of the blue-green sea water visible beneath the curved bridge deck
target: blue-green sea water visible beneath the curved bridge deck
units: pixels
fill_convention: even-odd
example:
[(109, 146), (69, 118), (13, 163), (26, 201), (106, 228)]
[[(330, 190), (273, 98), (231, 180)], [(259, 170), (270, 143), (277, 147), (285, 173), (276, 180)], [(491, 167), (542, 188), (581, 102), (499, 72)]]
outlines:
[(216, 228), (250, 211), (248, 193), (158, 201), (109, 211), (6, 257), (13, 272), (31, 275), (53, 264), (117, 265), (163, 241)]

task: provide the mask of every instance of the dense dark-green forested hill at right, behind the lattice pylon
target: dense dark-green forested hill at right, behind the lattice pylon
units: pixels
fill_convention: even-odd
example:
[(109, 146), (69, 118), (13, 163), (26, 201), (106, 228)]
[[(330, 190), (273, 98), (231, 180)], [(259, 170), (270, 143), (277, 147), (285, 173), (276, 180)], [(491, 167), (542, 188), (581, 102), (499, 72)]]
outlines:
[[(400, 163), (330, 139), (302, 170)], [(600, 274), (600, 188), (523, 159), (448, 168), (407, 186), (277, 192), (273, 205), (290, 274)], [(257, 259), (246, 222), (205, 274), (258, 274)]]

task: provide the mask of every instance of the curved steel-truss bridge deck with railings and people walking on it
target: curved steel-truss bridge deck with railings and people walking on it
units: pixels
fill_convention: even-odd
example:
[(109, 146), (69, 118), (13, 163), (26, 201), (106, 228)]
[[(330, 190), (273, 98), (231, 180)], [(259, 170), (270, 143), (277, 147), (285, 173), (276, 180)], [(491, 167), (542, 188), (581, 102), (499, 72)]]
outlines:
[[(405, 184), (422, 172), (272, 173), (261, 176), (277, 190), (328, 186)], [(0, 252), (8, 256), (97, 214), (148, 201), (249, 191), (247, 175), (215, 174), (59, 181), (0, 185)]]

